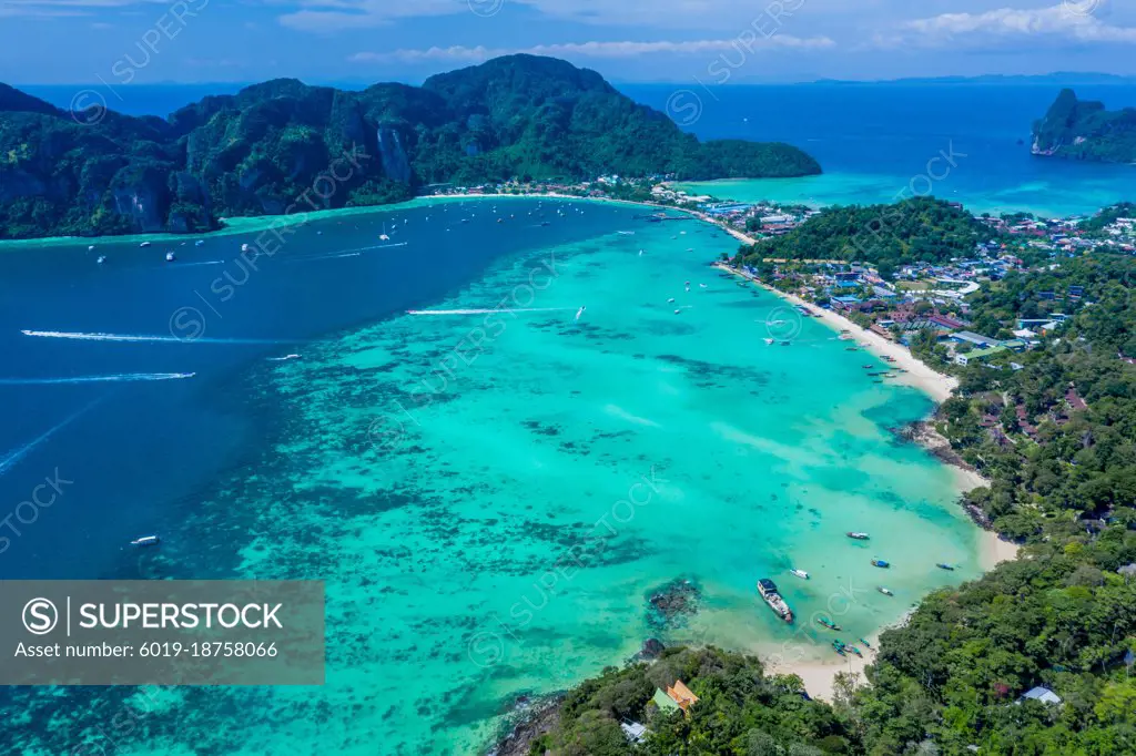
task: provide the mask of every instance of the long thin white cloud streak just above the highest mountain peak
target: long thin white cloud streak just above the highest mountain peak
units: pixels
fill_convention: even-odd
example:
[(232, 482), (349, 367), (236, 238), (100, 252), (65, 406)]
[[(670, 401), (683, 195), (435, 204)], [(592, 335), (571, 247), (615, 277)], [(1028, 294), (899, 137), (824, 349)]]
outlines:
[(524, 52), (534, 56), (584, 58), (637, 58), (650, 54), (701, 54), (735, 50), (740, 53), (765, 50), (822, 50), (835, 47), (826, 36), (801, 39), (779, 34), (759, 42), (741, 40), (694, 40), (671, 42), (573, 42), (566, 44), (537, 44), (531, 48), (429, 48), (425, 50), (392, 50), (390, 52), (357, 52), (349, 58), (354, 62), (420, 62), (427, 60), (478, 61), (499, 56)]

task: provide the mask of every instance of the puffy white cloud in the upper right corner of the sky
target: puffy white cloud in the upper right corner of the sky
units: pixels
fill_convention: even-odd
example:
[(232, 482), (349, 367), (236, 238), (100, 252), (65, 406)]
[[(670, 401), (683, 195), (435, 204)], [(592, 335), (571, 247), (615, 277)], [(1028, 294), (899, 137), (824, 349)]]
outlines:
[(1064, 0), (1049, 8), (942, 14), (877, 34), (874, 47), (982, 47), (1008, 40), (1136, 43), (1136, 27), (1101, 20), (1108, 5), (1109, 0)]

